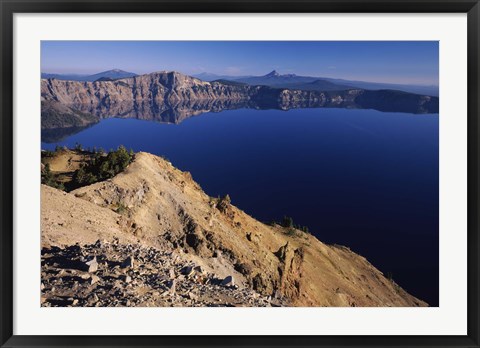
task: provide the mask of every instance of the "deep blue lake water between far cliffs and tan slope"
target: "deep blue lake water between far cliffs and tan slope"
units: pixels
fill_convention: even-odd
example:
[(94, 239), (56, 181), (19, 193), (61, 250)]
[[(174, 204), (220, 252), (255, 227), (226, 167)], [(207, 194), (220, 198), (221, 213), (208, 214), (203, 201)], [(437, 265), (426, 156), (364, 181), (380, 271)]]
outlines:
[(438, 114), (240, 109), (178, 125), (105, 119), (56, 145), (167, 157), (261, 221), (293, 217), (438, 306)]

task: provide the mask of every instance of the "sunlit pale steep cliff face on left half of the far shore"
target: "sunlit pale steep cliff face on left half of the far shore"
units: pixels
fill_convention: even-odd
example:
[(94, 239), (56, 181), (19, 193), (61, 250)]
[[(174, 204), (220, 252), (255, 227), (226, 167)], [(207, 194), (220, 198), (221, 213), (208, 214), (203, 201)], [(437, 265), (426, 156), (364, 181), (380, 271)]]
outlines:
[[(42, 98), (55, 100), (79, 110), (103, 113), (112, 107), (123, 110), (158, 108), (190, 100), (242, 100), (248, 89), (204, 82), (178, 72), (158, 72), (115, 81), (42, 80)], [(122, 113), (122, 109), (118, 110)], [(110, 114), (112, 115), (112, 114)]]

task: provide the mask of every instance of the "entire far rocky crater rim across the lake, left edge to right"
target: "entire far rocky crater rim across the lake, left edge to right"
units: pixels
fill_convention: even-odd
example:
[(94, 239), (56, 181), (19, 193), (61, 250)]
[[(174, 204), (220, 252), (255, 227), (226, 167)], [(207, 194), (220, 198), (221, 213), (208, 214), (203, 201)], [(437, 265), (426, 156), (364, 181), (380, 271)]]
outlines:
[[(113, 81), (41, 80), (42, 128), (85, 126), (102, 117), (161, 118), (181, 110), (186, 117), (238, 107), (288, 110), (305, 107), (371, 108), (437, 113), (438, 98), (412, 93), (348, 89), (298, 90), (230, 81), (206, 82), (175, 71)], [(189, 111), (186, 112), (185, 110)]]

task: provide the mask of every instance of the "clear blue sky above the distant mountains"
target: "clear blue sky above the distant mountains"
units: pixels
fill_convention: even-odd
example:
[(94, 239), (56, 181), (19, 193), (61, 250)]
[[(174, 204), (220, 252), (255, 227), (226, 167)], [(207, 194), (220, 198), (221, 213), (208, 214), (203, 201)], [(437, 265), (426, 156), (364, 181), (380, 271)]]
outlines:
[(42, 41), (46, 73), (281, 74), (438, 84), (437, 41)]

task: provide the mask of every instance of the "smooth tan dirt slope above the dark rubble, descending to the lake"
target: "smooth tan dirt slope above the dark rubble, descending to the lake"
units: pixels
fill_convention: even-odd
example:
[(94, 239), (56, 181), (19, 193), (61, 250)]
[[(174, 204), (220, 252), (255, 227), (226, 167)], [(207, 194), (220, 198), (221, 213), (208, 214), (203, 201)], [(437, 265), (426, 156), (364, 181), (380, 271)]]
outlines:
[[(116, 213), (116, 211), (122, 214)], [(42, 242), (169, 247), (220, 276), (295, 306), (425, 306), (364, 257), (312, 235), (265, 225), (206, 195), (168, 161), (138, 153), (114, 178), (63, 193), (42, 186)]]

